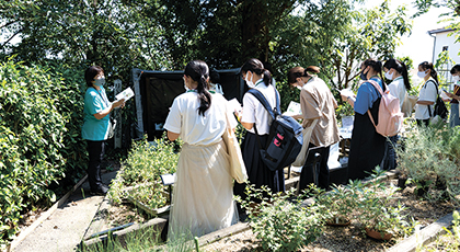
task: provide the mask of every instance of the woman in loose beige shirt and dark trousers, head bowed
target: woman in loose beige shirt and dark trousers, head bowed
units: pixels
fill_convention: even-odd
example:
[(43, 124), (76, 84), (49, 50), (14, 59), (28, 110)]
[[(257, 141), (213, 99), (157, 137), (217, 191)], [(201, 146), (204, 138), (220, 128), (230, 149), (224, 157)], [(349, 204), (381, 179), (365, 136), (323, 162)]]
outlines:
[[(313, 75), (319, 72), (320, 68), (314, 66), (310, 66), (307, 69), (295, 67), (288, 71), (288, 82), (292, 87), (301, 89), (300, 106), (303, 128), (310, 127), (313, 121), (318, 119), (312, 129), (310, 142), (303, 142), (303, 145), (309, 145), (309, 149), (320, 147), (318, 149), (318, 153), (321, 154), (318, 185), (327, 190), (330, 184), (327, 167), (330, 148), (340, 140), (337, 121), (335, 118), (337, 102), (324, 81)], [(302, 168), (299, 192), (307, 188), (310, 183), (314, 183), (313, 174), (311, 164)]]

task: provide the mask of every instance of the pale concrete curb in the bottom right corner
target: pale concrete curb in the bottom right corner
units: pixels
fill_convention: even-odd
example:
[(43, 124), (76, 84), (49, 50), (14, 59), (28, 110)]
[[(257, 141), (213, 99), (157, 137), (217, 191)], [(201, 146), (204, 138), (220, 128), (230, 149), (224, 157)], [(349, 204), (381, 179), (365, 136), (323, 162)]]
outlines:
[[(457, 210), (459, 211), (460, 208)], [(433, 242), (436, 240), (438, 234), (446, 233), (444, 228), (448, 228), (452, 224), (452, 214), (453, 211), (438, 219), (436, 222), (428, 225), (428, 227), (404, 239), (402, 242), (391, 247), (387, 250), (387, 252), (413, 252), (416, 251), (418, 247)]]

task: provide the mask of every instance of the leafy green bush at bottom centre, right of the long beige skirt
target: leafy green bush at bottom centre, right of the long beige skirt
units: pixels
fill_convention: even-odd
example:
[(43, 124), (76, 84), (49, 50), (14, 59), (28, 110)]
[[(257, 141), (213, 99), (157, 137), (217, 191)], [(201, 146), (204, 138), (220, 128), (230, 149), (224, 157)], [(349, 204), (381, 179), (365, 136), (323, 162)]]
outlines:
[(302, 206), (297, 199), (288, 201), (295, 195), (294, 188), (285, 195), (274, 195), (267, 187), (254, 188), (251, 185), (246, 186), (245, 193), (250, 196), (248, 198), (263, 199), (260, 204), (242, 202), (263, 251), (297, 251), (323, 232), (324, 218), (319, 207)]

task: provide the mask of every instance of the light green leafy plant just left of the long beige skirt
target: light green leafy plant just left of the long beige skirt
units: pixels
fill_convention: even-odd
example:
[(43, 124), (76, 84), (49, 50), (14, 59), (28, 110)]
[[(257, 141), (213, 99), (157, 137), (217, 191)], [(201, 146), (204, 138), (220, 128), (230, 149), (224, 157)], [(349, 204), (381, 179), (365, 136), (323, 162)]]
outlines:
[(147, 139), (135, 142), (112, 182), (110, 197), (119, 204), (131, 196), (152, 209), (165, 206), (168, 187), (162, 185), (160, 175), (175, 172), (179, 153), (174, 149), (174, 144), (164, 137), (152, 142)]

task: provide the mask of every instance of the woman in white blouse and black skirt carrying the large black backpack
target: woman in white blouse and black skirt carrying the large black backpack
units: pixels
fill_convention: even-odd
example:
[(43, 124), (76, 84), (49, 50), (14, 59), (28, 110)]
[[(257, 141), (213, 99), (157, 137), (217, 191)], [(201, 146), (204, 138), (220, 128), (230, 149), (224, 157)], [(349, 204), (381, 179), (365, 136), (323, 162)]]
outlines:
[[(275, 87), (272, 85), (272, 75), (268, 70), (264, 69), (264, 65), (261, 60), (255, 58), (249, 59), (241, 67), (241, 73), (250, 89), (258, 90), (272, 107), (276, 106), (277, 91)], [(260, 145), (266, 145), (269, 125), (273, 121), (268, 112), (254, 95), (245, 93), (243, 96), (242, 113), (235, 112), (235, 114), (237, 117), (240, 118), (241, 125), (248, 129), (241, 146), (241, 152), (244, 165), (246, 167), (249, 183), (254, 184), (256, 188), (266, 185), (274, 193), (284, 192), (284, 171), (271, 171), (262, 161), (260, 154)], [(254, 128), (257, 129), (258, 136), (255, 135)], [(233, 193), (245, 199), (245, 184), (235, 183)], [(253, 201), (258, 202), (255, 198)]]

